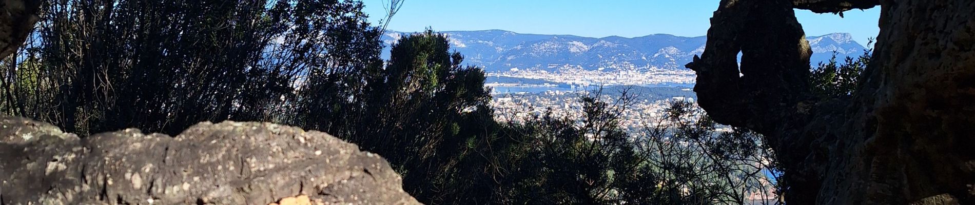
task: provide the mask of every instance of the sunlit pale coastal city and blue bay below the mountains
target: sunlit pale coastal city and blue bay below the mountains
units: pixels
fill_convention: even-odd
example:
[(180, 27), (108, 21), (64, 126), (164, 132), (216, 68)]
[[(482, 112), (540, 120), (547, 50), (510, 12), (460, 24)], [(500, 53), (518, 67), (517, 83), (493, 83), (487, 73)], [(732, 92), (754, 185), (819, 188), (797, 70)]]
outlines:
[[(578, 119), (582, 96), (599, 96), (619, 111), (622, 125), (630, 131), (642, 130), (661, 118), (671, 101), (695, 102), (691, 90), (693, 71), (688, 69), (587, 70), (565, 66), (558, 70), (511, 69), (487, 73), (486, 85), (492, 88), (491, 105), (500, 121), (522, 122), (551, 112), (553, 117)], [(622, 105), (621, 91), (635, 96)], [(693, 119), (697, 119), (695, 116)]]

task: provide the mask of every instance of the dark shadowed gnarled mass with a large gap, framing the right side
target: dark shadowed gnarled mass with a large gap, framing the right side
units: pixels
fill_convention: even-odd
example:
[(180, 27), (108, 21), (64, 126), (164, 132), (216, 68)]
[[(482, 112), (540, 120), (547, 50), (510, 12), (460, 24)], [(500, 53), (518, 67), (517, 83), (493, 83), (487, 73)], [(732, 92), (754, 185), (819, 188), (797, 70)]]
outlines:
[(851, 98), (816, 99), (793, 9), (836, 2), (722, 0), (687, 64), (701, 107), (765, 135), (789, 204), (975, 204), (975, 2), (848, 1), (879, 4), (877, 50)]

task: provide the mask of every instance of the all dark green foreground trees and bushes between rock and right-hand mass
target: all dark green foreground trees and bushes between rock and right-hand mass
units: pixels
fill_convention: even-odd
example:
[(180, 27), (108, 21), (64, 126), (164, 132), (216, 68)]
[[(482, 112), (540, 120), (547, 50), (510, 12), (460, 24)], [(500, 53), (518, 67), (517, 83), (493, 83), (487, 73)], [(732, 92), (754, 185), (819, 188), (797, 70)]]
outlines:
[[(323, 130), (381, 154), (432, 204), (746, 204), (773, 186), (762, 138), (675, 101), (641, 132), (637, 93), (579, 97), (581, 116), (494, 120), (485, 74), (447, 36), (407, 36), (380, 59), (356, 1), (64, 0), (4, 60), (0, 111), (87, 135), (178, 134), (199, 121)], [(863, 57), (821, 65), (823, 97), (851, 93)], [(859, 64), (858, 64), (859, 63)], [(849, 65), (849, 66), (846, 66)], [(832, 67), (831, 67), (832, 66)], [(832, 73), (831, 73), (832, 72)], [(615, 94), (614, 94), (615, 95)], [(702, 118), (692, 118), (702, 117)], [(777, 173), (777, 172), (773, 172)], [(774, 202), (772, 198), (768, 202)]]

